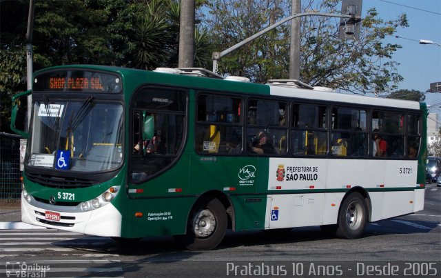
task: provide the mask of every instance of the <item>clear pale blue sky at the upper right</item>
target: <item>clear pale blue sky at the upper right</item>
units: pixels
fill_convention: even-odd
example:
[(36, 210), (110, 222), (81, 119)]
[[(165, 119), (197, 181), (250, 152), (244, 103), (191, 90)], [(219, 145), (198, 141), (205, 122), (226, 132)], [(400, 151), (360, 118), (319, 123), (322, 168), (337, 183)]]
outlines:
[[(441, 44), (441, 0), (364, 0), (362, 17), (369, 8), (376, 8), (378, 17), (396, 19), (406, 13), (409, 27), (399, 27), (396, 35), (385, 42), (398, 43), (402, 48), (393, 54), (393, 61), (400, 63), (398, 74), (404, 81), (398, 90), (426, 92), (430, 83), (441, 84), (441, 46), (423, 45), (418, 41), (428, 39)], [(426, 93), (427, 104), (440, 103), (433, 112), (441, 113), (441, 93)]]

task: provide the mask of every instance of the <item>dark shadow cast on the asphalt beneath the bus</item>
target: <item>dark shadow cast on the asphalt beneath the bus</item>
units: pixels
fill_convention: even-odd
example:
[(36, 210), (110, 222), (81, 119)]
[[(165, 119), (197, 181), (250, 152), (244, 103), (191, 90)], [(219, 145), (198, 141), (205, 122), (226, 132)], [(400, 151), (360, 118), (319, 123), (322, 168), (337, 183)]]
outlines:
[[(438, 228), (439, 224), (438, 221), (383, 220), (369, 224), (361, 239), (382, 235), (427, 233)], [(100, 240), (94, 241), (95, 238)], [(302, 243), (302, 245), (305, 245), (308, 242), (316, 241), (323, 241), (326, 244), (338, 244), (342, 239), (328, 237), (318, 226), (294, 228), (291, 230), (254, 230), (243, 232), (232, 232), (229, 230), (216, 249), (237, 248), (240, 246), (269, 246), (273, 244)], [(52, 245), (120, 256), (198, 253), (185, 250), (173, 237), (168, 236), (145, 237), (138, 241), (115, 241), (108, 237), (81, 237), (68, 241), (57, 241)]]

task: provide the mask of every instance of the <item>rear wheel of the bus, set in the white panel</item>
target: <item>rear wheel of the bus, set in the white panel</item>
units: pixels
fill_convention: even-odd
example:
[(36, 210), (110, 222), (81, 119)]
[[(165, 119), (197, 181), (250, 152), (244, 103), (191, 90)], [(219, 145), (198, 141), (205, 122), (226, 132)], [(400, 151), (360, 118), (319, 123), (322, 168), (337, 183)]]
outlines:
[(365, 198), (358, 192), (352, 192), (340, 206), (336, 235), (342, 239), (358, 239), (365, 232), (366, 225)]

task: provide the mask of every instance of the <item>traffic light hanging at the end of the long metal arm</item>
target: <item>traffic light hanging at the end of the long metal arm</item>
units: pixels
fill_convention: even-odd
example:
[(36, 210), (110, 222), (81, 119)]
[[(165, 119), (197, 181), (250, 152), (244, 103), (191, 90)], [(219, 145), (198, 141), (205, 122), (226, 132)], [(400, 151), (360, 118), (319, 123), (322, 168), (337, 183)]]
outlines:
[(343, 0), (342, 14), (350, 15), (351, 18), (340, 19), (338, 37), (340, 39), (360, 39), (362, 0)]

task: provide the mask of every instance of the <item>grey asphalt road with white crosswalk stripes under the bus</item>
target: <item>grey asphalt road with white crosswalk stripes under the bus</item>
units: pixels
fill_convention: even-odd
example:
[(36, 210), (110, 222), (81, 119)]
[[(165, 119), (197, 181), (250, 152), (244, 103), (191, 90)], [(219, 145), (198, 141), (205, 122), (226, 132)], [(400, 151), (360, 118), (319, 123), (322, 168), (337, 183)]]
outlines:
[(0, 230), (0, 277), (440, 277), (440, 222), (441, 188), (432, 184), (424, 210), (369, 224), (355, 240), (329, 239), (318, 227), (229, 232), (216, 250), (190, 252), (172, 237), (127, 244)]

